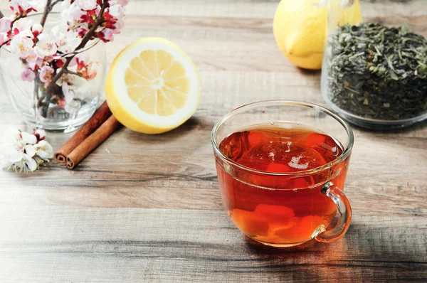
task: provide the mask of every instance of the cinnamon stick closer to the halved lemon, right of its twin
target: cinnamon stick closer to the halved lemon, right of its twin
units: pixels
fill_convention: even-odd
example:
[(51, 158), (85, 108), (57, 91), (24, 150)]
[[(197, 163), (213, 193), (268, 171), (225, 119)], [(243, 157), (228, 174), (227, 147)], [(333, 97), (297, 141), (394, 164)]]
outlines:
[(111, 116), (93, 134), (79, 144), (67, 157), (67, 168), (73, 169), (86, 156), (105, 141), (110, 135), (121, 126), (120, 122)]

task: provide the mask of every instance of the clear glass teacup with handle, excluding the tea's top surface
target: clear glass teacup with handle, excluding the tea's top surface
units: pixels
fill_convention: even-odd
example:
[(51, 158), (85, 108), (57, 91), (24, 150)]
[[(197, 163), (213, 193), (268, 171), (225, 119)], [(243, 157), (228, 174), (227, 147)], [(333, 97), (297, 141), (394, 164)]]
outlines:
[[(314, 129), (342, 146), (342, 152), (317, 168), (273, 173), (238, 164), (220, 150), (221, 142), (231, 134), (268, 125)], [(221, 196), (231, 220), (244, 235), (274, 247), (312, 239), (338, 240), (352, 218), (342, 190), (353, 141), (352, 129), (344, 120), (307, 102), (255, 102), (226, 114), (214, 126), (211, 142)]]

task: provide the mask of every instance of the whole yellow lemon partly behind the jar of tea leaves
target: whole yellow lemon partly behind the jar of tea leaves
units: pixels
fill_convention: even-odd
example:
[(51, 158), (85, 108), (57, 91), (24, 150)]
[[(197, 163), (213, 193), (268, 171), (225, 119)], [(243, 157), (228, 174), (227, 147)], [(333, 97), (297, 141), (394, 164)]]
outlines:
[[(329, 1), (339, 23), (362, 21), (359, 0), (345, 9), (339, 5), (342, 0)], [(275, 41), (283, 54), (298, 67), (311, 70), (322, 68), (326, 28), (327, 5), (317, 6), (313, 0), (280, 1), (273, 21)]]

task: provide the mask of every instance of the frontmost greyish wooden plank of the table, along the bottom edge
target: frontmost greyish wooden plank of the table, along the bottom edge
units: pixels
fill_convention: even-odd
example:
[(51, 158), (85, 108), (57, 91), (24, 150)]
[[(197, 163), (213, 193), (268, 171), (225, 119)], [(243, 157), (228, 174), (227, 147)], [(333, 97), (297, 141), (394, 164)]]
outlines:
[(425, 218), (354, 218), (337, 242), (271, 250), (217, 210), (0, 207), (1, 282), (427, 280)]

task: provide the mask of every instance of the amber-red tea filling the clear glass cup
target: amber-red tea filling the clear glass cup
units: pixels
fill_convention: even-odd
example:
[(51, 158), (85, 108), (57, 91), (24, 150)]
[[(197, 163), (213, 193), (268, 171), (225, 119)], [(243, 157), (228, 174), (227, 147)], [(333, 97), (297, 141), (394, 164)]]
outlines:
[(298, 172), (337, 159), (343, 146), (336, 139), (309, 127), (268, 124), (233, 132), (219, 149), (237, 164), (270, 173), (217, 163), (226, 209), (243, 233), (270, 245), (297, 245), (330, 225), (337, 208), (320, 189), (327, 181), (344, 187), (348, 160), (329, 170)]

